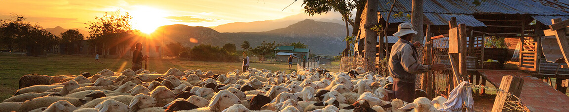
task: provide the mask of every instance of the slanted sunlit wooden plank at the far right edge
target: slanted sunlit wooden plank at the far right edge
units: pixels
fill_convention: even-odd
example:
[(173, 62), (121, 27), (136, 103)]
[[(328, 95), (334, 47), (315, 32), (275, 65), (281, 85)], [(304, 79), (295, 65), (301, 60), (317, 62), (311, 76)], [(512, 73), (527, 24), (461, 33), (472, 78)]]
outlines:
[[(551, 19), (551, 23), (556, 24), (561, 22), (561, 19)], [(555, 38), (557, 39), (557, 44), (559, 45), (559, 49), (561, 49), (561, 53), (563, 54), (563, 59), (565, 63), (569, 65), (569, 61), (567, 57), (569, 57), (569, 43), (567, 42), (567, 37), (565, 36), (566, 28), (559, 28), (555, 30)]]

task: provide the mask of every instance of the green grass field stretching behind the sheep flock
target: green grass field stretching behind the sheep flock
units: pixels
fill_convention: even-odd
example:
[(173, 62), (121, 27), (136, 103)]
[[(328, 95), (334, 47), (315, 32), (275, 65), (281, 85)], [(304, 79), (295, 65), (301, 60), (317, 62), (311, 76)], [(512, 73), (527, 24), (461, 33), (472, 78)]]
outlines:
[[(105, 64), (94, 63), (94, 57), (71, 56), (71, 55), (47, 55), (44, 57), (32, 57), (22, 55), (0, 54), (0, 101), (9, 98), (18, 89), (19, 78), (25, 74), (44, 74), (47, 76), (77, 75), (82, 72), (92, 74), (109, 68), (114, 71), (121, 71), (131, 67), (129, 59), (105, 59), (101, 58)], [(171, 67), (180, 70), (202, 69), (212, 70), (213, 73), (226, 73), (230, 70), (241, 69), (241, 62), (238, 63), (219, 63), (205, 61), (188, 61), (177, 59), (150, 59), (148, 69), (164, 73)], [(327, 69), (336, 71), (339, 63), (325, 65)], [(265, 68), (273, 71), (296, 70), (288, 69), (287, 63), (257, 63), (253, 60), (253, 68)]]

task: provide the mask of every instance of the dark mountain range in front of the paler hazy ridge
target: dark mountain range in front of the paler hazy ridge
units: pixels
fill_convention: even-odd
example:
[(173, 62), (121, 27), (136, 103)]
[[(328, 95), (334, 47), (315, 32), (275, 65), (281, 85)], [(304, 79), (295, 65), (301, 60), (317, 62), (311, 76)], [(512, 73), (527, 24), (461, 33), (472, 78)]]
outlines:
[[(179, 42), (188, 47), (194, 47), (199, 44), (211, 44), (221, 47), (226, 43), (232, 43), (240, 49), (240, 45), (244, 41), (250, 42), (251, 47), (256, 47), (263, 41), (274, 41), (276, 43), (302, 42), (308, 45), (312, 53), (338, 55), (338, 52), (343, 51), (345, 48), (345, 42), (342, 41), (346, 36), (345, 33), (346, 29), (342, 24), (305, 19), (287, 27), (263, 32), (218, 32), (208, 27), (174, 24), (159, 27), (152, 35), (162, 37), (165, 44)], [(197, 40), (197, 43), (192, 43), (190, 39)]]

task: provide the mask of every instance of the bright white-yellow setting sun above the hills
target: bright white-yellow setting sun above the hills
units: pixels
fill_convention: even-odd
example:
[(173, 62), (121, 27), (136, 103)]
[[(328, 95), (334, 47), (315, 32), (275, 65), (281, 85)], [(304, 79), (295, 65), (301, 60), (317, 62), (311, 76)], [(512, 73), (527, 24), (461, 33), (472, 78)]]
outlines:
[(135, 6), (133, 10), (129, 11), (130, 16), (133, 17), (133, 28), (150, 34), (160, 26), (167, 24), (168, 20), (164, 17), (168, 13), (164, 10), (156, 9), (147, 6)]

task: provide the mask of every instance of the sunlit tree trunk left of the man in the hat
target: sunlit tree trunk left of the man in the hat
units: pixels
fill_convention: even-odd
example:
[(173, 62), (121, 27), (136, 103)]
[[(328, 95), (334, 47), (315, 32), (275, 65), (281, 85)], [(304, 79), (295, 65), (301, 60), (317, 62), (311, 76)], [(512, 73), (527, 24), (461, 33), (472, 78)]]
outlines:
[[(364, 58), (367, 60), (368, 63), (364, 64), (368, 66), (373, 66), (373, 64), (369, 64), (369, 62), (375, 62), (376, 59), (376, 42), (377, 42), (377, 32), (373, 31), (371, 28), (377, 26), (377, 1), (366, 1), (365, 3), (365, 10), (362, 12), (362, 25), (361, 28), (361, 37), (364, 37)], [(370, 67), (364, 67), (368, 69)], [(370, 70), (370, 69), (368, 69)]]

